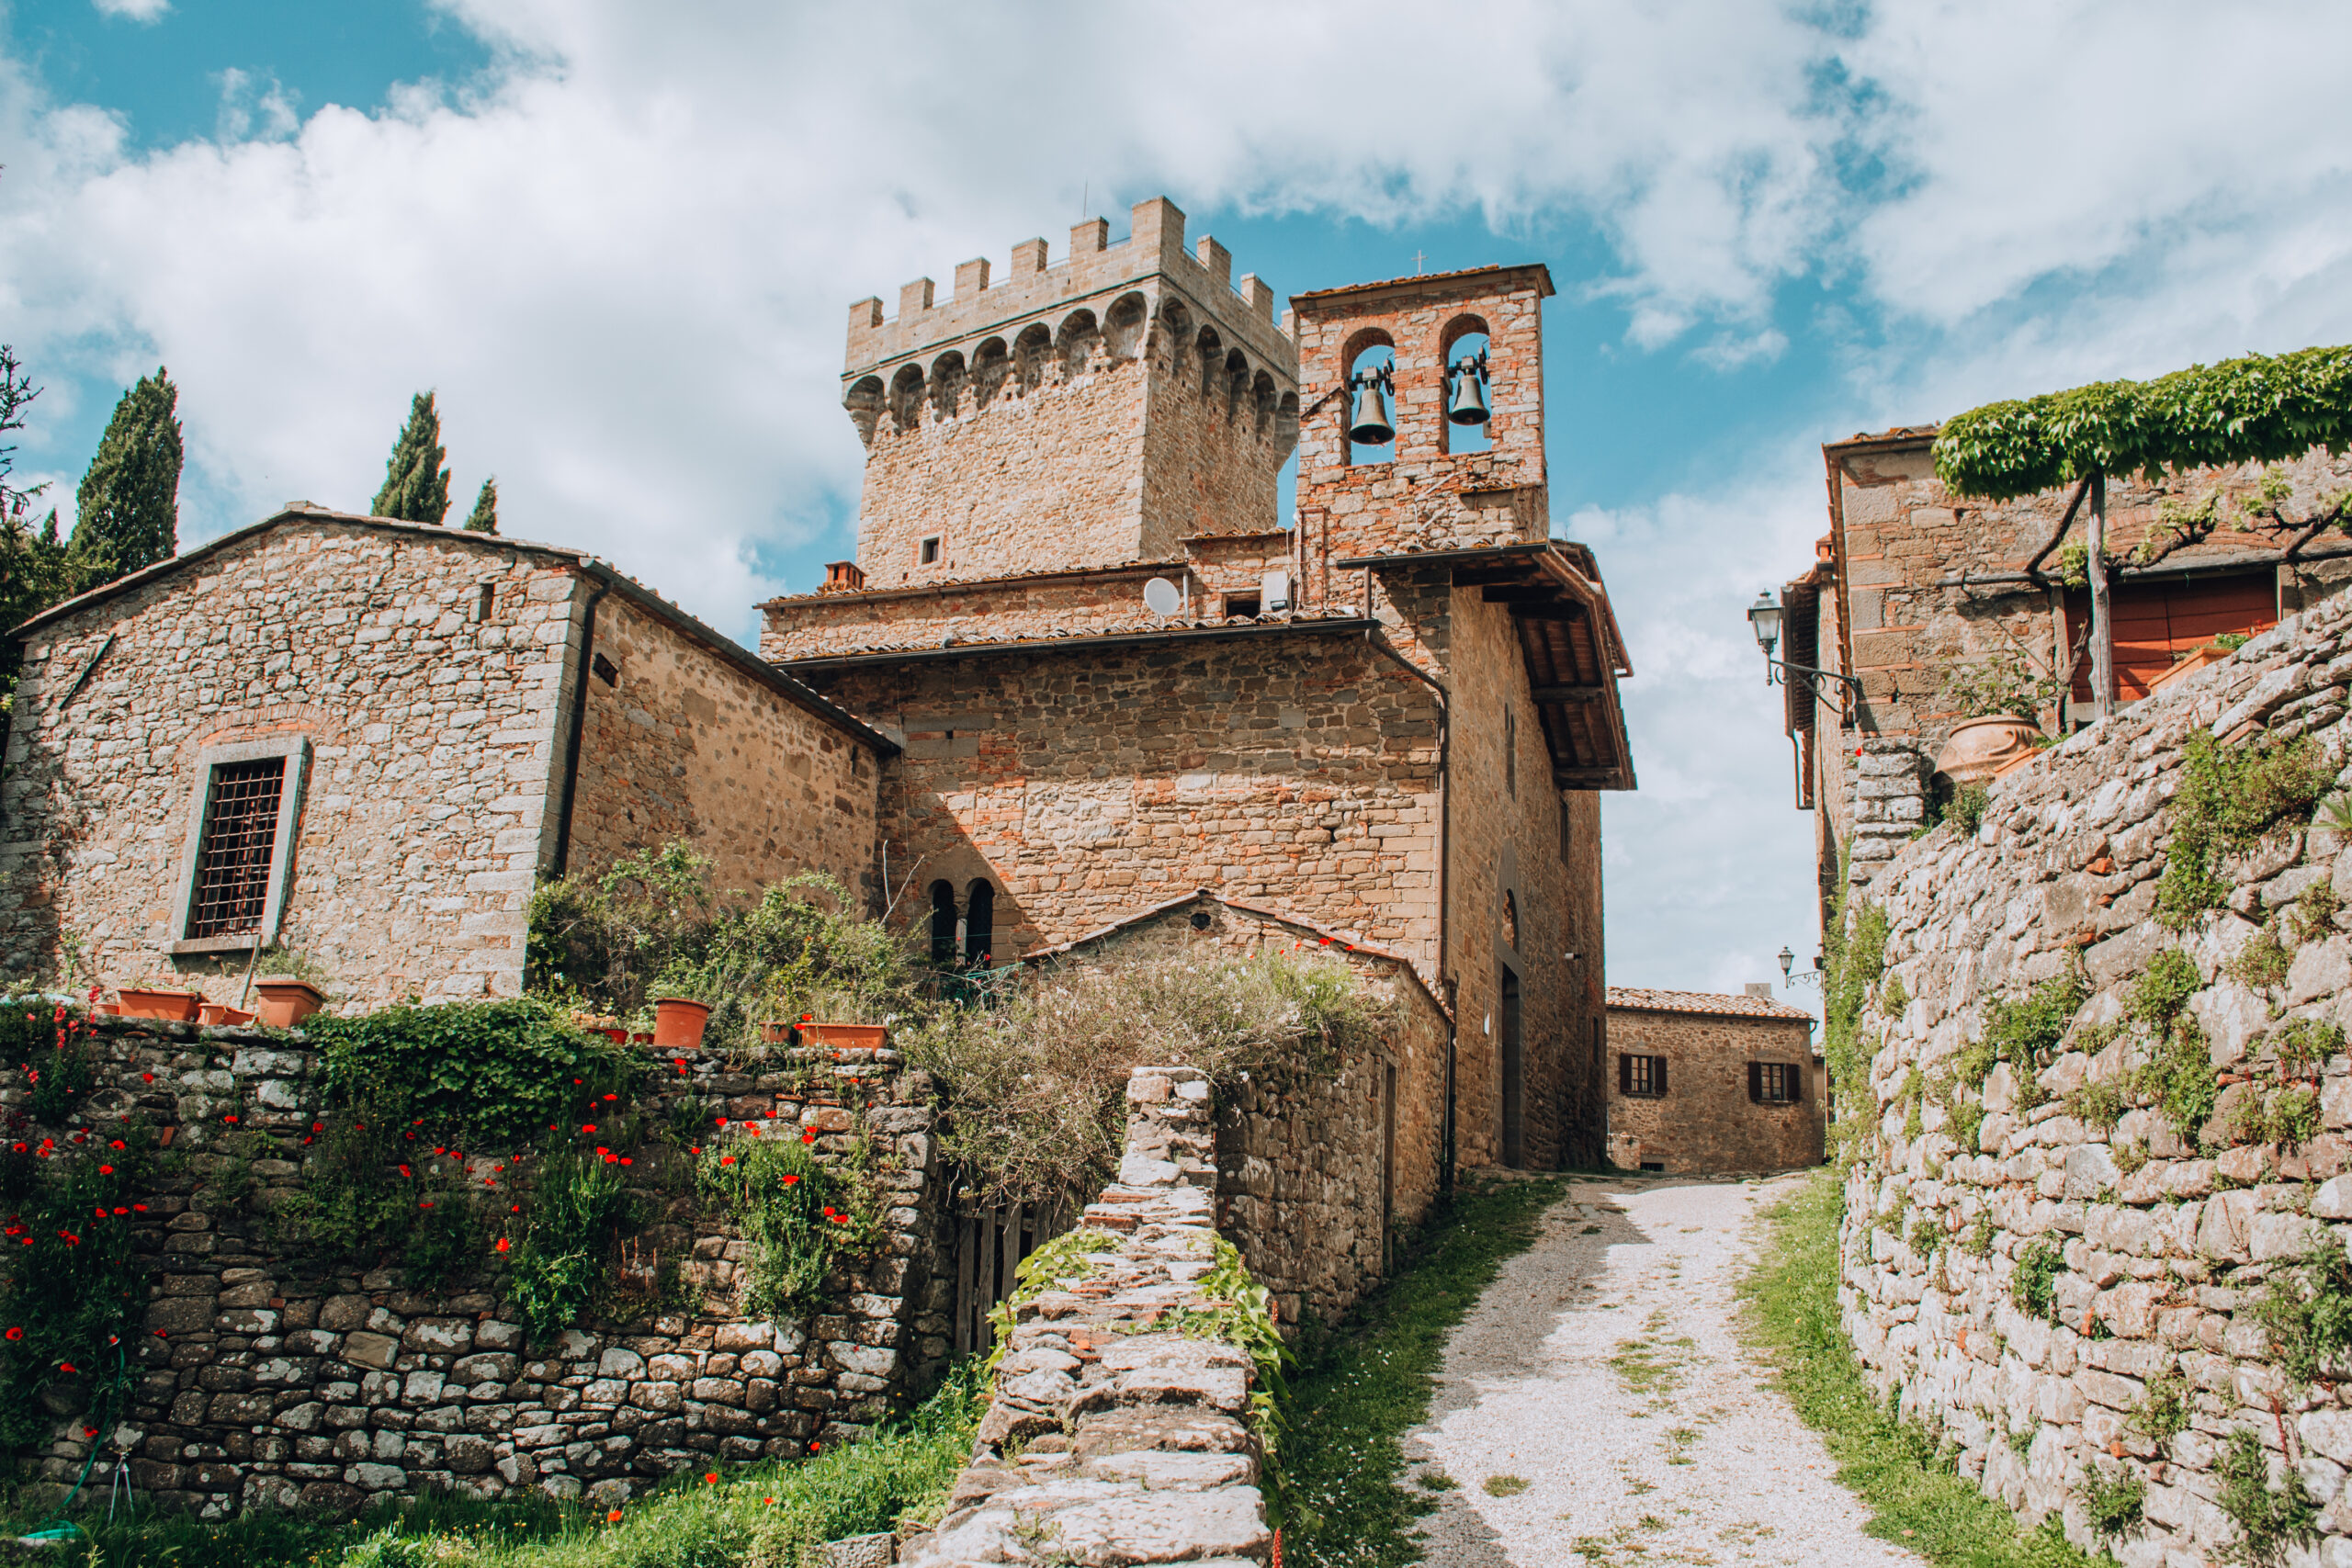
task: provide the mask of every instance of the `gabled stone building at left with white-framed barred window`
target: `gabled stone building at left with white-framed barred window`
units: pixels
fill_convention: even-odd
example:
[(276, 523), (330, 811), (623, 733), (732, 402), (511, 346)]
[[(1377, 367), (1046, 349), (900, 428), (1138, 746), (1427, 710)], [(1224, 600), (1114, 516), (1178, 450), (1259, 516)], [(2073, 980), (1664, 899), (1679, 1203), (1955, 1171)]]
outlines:
[(9, 973), (513, 994), (539, 877), (673, 837), (875, 889), (896, 745), (576, 550), (299, 503), (19, 637)]

